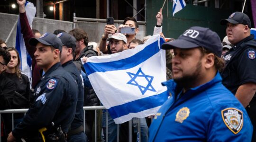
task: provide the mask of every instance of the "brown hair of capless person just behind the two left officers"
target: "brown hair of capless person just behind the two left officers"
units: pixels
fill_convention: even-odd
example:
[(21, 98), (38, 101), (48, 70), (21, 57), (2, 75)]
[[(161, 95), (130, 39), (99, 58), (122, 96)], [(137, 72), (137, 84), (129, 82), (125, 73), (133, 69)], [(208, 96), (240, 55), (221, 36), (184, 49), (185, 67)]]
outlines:
[(87, 46), (88, 45), (88, 36), (84, 30), (81, 28), (74, 28), (73, 30), (69, 31), (70, 35), (73, 35), (76, 39), (76, 41), (79, 41), (81, 39), (84, 40), (84, 44)]

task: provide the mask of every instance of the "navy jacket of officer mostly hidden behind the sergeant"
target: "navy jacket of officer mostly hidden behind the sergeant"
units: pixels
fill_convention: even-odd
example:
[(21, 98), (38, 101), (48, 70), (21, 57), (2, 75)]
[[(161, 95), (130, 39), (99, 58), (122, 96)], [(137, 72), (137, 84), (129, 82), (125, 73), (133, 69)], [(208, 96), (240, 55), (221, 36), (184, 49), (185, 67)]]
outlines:
[(71, 123), (71, 130), (78, 128), (83, 124), (83, 80), (81, 73), (76, 69), (73, 61), (65, 62), (62, 67), (68, 71), (78, 85), (78, 99), (75, 110), (74, 120)]

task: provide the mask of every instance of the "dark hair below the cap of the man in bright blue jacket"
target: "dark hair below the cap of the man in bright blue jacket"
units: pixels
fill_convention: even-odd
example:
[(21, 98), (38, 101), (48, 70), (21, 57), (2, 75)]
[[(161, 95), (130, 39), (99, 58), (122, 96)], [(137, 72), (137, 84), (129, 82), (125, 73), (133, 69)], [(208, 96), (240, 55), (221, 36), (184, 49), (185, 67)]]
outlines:
[[(210, 52), (209, 50), (207, 50), (207, 49), (205, 49), (203, 47), (199, 47), (199, 49), (200, 49), (200, 51), (202, 53), (202, 56), (204, 54), (212, 53), (212, 52)], [(223, 68), (224, 68), (224, 64), (225, 63), (224, 63), (223, 59), (219, 58), (216, 54), (214, 54), (214, 67), (215, 67), (215, 69), (218, 70), (218, 71), (222, 71)]]

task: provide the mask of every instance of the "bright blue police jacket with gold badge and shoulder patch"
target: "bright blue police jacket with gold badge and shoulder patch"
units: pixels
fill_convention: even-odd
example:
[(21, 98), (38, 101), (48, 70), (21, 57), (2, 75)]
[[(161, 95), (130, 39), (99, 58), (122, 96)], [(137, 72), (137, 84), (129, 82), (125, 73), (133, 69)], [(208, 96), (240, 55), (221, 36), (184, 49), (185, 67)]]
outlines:
[(183, 94), (173, 80), (163, 82), (173, 96), (155, 115), (149, 142), (251, 142), (250, 118), (221, 81), (218, 72)]

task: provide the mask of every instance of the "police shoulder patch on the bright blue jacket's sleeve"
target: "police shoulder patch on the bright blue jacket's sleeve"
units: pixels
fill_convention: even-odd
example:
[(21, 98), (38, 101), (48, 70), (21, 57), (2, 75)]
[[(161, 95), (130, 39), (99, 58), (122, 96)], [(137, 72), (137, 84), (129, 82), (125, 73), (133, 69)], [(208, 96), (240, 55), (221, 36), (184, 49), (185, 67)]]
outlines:
[(221, 110), (222, 119), (231, 132), (237, 134), (243, 127), (243, 112), (236, 108)]

